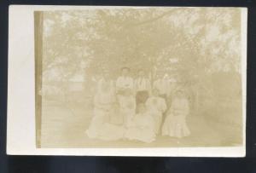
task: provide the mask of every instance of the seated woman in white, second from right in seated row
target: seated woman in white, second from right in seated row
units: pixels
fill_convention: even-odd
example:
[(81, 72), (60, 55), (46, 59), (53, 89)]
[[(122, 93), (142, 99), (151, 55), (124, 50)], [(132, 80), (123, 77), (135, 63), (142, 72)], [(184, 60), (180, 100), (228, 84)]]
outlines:
[(147, 109), (154, 118), (155, 134), (159, 133), (163, 113), (166, 112), (166, 100), (159, 96), (159, 90), (153, 89), (152, 96), (146, 102)]

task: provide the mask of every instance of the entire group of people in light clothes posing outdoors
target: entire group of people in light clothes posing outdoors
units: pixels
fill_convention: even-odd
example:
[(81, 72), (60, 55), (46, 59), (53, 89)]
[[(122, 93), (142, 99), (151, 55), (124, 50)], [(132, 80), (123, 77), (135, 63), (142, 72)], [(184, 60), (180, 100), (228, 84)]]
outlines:
[(108, 78), (108, 73), (99, 80), (87, 136), (143, 142), (152, 142), (159, 135), (189, 136), (189, 101), (183, 89), (170, 89), (165, 78), (151, 84), (143, 70), (136, 79), (131, 78), (130, 68), (121, 71), (116, 81)]

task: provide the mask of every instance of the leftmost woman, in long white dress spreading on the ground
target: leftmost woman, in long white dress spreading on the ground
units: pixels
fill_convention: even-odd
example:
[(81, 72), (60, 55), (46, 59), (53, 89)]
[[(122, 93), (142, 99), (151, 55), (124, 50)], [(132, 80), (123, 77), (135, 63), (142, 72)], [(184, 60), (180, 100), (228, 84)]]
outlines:
[(106, 141), (122, 139), (124, 135), (123, 127), (109, 123), (114, 103), (112, 82), (103, 78), (98, 85), (94, 97), (94, 116), (86, 134), (90, 138)]

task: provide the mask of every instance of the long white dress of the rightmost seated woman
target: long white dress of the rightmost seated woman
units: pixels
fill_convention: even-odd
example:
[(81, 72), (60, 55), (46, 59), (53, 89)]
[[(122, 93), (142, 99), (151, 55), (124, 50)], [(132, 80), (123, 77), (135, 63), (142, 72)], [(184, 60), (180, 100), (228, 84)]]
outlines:
[(172, 107), (168, 111), (165, 123), (162, 127), (163, 136), (181, 138), (189, 136), (190, 131), (186, 123), (189, 115), (189, 101), (186, 98), (174, 98)]

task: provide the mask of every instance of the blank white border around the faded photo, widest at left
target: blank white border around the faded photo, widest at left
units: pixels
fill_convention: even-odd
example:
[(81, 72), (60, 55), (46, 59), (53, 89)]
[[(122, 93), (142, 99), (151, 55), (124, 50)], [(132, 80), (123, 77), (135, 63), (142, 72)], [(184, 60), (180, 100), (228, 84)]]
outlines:
[(37, 10), (145, 7), (33, 6), (9, 7), (9, 77), (7, 153), (11, 155), (244, 157), (246, 153), (247, 9), (241, 8), (242, 147), (36, 148), (34, 19)]

